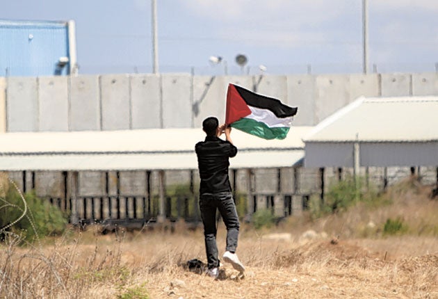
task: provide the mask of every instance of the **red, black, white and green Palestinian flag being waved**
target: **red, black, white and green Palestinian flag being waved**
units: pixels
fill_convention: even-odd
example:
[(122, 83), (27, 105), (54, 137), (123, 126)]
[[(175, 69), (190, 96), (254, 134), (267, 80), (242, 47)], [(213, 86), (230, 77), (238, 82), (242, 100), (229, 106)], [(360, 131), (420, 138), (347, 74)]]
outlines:
[(229, 84), (225, 123), (265, 139), (284, 139), (298, 108)]

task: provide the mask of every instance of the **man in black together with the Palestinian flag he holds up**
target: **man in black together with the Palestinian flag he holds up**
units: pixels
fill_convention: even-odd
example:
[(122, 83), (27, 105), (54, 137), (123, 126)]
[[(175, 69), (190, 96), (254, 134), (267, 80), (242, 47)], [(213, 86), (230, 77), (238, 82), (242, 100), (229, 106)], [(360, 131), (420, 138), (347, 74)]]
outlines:
[[(218, 119), (214, 117), (202, 122), (206, 138), (195, 145), (195, 152), (201, 178), (200, 211), (209, 268), (207, 274), (211, 277), (219, 275), (216, 210), (219, 210), (227, 227), (227, 247), (223, 259), (240, 273), (245, 270), (236, 255), (240, 224), (228, 177), (229, 158), (237, 154), (230, 137), (232, 127), (265, 139), (284, 139), (297, 110), (278, 99), (257, 95), (230, 83), (225, 124), (219, 126)], [(219, 138), (223, 133), (226, 140)]]

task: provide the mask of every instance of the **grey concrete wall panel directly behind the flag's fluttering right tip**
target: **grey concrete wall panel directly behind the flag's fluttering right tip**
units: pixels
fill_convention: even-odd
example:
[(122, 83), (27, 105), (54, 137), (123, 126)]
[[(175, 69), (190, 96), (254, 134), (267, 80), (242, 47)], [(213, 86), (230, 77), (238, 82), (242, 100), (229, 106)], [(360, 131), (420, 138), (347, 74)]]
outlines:
[(287, 76), (287, 104), (298, 107), (293, 125), (311, 126), (316, 124), (315, 101), (316, 101), (315, 76)]

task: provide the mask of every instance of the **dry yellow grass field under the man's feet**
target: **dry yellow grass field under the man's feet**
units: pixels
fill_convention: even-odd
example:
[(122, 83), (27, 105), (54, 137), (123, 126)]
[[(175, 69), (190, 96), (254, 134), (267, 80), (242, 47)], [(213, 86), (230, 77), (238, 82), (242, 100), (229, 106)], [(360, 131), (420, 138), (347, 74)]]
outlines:
[[(382, 206), (303, 214), (272, 229), (243, 223), (245, 276), (225, 264), (218, 280), (186, 268), (206, 258), (202, 227), (184, 223), (106, 235), (88, 227), (27, 247), (8, 236), (0, 298), (438, 298), (438, 200), (429, 192), (399, 186)], [(405, 229), (384, 234), (389, 218)], [(222, 223), (218, 247), (222, 254)]]

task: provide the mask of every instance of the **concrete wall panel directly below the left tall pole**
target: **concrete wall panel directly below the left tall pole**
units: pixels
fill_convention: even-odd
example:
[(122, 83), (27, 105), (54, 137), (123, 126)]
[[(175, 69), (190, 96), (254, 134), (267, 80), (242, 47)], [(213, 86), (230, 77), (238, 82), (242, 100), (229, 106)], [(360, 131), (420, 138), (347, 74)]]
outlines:
[(161, 127), (161, 86), (156, 75), (132, 75), (132, 129)]

